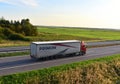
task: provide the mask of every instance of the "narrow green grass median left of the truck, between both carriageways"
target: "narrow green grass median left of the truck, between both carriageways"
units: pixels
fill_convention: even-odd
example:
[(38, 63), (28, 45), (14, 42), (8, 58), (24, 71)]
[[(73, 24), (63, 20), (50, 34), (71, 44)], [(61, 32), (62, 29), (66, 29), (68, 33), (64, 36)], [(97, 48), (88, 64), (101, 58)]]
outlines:
[(30, 55), (30, 52), (26, 51), (26, 52), (6, 52), (6, 53), (0, 53), (0, 57), (24, 56), (24, 55)]

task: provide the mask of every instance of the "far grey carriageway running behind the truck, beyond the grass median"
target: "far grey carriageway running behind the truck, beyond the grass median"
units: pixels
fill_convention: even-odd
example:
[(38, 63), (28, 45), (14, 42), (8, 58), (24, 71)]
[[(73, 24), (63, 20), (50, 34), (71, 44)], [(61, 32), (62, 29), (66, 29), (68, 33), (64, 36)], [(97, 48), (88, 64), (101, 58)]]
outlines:
[[(120, 41), (87, 42), (88, 47), (105, 46), (105, 45), (120, 45)], [(6, 48), (0, 48), (0, 53), (21, 52), (28, 50), (30, 50), (30, 46), (6, 47)]]

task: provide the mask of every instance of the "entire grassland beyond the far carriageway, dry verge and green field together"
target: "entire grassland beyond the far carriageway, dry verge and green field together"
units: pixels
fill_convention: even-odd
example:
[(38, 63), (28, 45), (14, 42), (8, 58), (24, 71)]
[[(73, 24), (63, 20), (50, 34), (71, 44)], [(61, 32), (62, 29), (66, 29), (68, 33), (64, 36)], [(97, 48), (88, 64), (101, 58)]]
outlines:
[(84, 28), (38, 27), (38, 36), (27, 37), (31, 41), (12, 41), (0, 39), (0, 47), (25, 46), (32, 41), (84, 40), (105, 41), (120, 40), (120, 31)]

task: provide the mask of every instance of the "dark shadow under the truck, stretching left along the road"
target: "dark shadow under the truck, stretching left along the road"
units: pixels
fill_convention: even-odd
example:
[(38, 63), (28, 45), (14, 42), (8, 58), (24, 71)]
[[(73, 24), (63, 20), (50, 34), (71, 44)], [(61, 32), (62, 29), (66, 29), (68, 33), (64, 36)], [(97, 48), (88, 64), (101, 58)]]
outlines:
[(70, 57), (77, 57), (80, 55), (70, 54), (70, 55), (56, 55), (56, 56), (49, 56), (44, 57), (40, 59), (21, 59), (21, 60), (15, 60), (15, 61), (9, 61), (9, 62), (2, 62), (0, 63), (0, 69), (2, 68), (8, 68), (8, 67), (16, 67), (16, 66), (22, 66), (27, 64), (33, 64), (36, 62), (46, 62), (51, 60), (57, 60), (57, 59), (64, 59), (64, 58), (70, 58)]

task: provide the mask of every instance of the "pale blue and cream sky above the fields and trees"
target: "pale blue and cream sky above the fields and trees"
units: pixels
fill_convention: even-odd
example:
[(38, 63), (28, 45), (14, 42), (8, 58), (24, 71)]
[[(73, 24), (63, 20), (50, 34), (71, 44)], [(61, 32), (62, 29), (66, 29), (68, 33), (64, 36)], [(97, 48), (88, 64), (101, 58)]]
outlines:
[(120, 0), (0, 0), (0, 17), (34, 25), (120, 29)]

